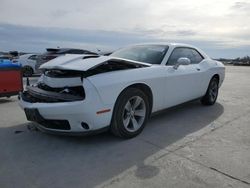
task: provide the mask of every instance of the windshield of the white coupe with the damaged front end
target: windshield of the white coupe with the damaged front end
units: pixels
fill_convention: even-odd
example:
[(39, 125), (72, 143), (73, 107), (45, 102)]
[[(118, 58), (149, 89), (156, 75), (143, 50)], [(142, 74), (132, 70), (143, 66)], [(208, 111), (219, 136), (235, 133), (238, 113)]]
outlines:
[(110, 56), (150, 64), (160, 64), (167, 50), (168, 46), (166, 45), (137, 45), (120, 49)]

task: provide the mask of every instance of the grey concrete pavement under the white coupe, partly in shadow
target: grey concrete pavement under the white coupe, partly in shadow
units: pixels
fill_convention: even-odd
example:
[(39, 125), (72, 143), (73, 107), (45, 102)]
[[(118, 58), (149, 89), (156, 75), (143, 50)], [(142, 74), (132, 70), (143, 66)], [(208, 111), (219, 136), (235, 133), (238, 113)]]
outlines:
[(249, 187), (249, 98), (250, 67), (228, 66), (214, 106), (168, 109), (131, 140), (47, 135), (0, 99), (0, 187)]

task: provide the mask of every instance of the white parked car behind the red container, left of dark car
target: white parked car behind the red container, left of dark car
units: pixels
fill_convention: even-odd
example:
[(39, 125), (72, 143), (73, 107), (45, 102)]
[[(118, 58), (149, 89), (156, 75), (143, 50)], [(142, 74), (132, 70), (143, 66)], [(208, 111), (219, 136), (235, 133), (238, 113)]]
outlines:
[(38, 54), (25, 54), (13, 60), (22, 66), (23, 76), (29, 77), (36, 73), (36, 63)]

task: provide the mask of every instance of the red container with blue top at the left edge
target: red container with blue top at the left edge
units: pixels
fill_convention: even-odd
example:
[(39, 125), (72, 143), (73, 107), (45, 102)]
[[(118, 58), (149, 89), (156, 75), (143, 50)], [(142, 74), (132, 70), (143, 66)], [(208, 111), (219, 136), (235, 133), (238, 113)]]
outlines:
[(23, 90), (20, 66), (0, 66), (0, 97), (17, 95)]

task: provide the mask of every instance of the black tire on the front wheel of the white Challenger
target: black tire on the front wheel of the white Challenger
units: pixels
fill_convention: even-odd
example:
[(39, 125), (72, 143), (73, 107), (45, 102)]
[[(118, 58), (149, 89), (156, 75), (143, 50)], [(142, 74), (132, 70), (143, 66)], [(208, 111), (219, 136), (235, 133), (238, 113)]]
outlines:
[[(131, 104), (131, 109), (133, 109), (133, 105), (136, 106), (136, 100), (140, 99), (141, 100), (141, 106), (138, 105), (138, 108), (142, 108), (142, 109), (136, 109), (137, 107), (134, 108), (134, 112), (133, 112), (133, 117), (131, 118), (131, 114), (127, 112), (127, 104)], [(133, 103), (133, 100), (134, 103)], [(133, 103), (133, 105), (132, 105)], [(145, 111), (144, 111), (144, 107), (145, 107)], [(150, 105), (149, 105), (149, 100), (148, 97), (139, 89), (137, 88), (128, 88), (126, 89), (124, 92), (122, 92), (120, 94), (120, 96), (118, 97), (115, 107), (114, 107), (114, 112), (113, 112), (113, 117), (112, 117), (112, 122), (111, 122), (111, 132), (118, 137), (121, 138), (133, 138), (135, 136), (137, 136), (138, 134), (140, 134), (143, 130), (143, 128), (145, 127), (145, 124), (148, 120), (149, 117), (149, 112), (150, 112)], [(131, 110), (132, 111), (132, 110)], [(137, 115), (136, 115), (136, 111), (143, 111), (143, 113), (145, 113), (145, 117), (144, 119), (137, 119)], [(129, 115), (128, 115), (129, 114)], [(127, 116), (125, 118), (125, 116)], [(125, 126), (124, 121), (126, 121), (126, 119), (130, 116), (130, 120), (128, 121), (128, 125)], [(137, 118), (136, 118), (137, 117)], [(137, 123), (138, 125), (141, 124), (140, 126), (137, 126), (137, 128), (133, 128), (133, 124), (134, 124), (134, 119), (137, 119)], [(142, 118), (139, 117), (139, 118)], [(132, 120), (133, 119), (133, 120)], [(132, 126), (131, 126), (131, 125)], [(130, 126), (130, 128), (129, 128)], [(133, 131), (134, 129), (134, 131)]]

